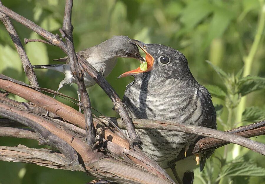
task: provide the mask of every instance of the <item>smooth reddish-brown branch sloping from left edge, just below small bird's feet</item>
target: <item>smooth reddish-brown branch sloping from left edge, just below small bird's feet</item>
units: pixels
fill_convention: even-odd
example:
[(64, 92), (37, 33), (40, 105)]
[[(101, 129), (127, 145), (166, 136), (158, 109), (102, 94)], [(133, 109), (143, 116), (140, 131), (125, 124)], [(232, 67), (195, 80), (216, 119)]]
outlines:
[[(60, 116), (62, 119), (85, 129), (85, 117), (82, 113), (78, 112), (72, 107), (63, 104), (62, 102), (53, 99), (52, 97), (44, 95), (41, 92), (29, 88), (28, 86), (22, 86), (17, 83), (21, 82), (0, 74), (0, 88), (5, 89), (26, 100), (29, 100), (30, 102), (43, 107), (45, 110), (48, 110)], [(111, 132), (110, 130), (105, 129), (104, 127), (99, 125), (98, 122), (98, 120), (94, 120), (94, 126), (96, 127), (96, 129), (102, 128), (103, 133), (101, 136), (103, 138), (129, 149), (129, 145), (126, 140)]]

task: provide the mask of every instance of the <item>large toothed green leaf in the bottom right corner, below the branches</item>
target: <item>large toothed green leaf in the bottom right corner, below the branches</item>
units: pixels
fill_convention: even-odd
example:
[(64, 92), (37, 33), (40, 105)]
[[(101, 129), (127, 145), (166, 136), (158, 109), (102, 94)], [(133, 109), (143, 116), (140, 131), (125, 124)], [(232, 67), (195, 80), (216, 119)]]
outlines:
[(243, 157), (236, 158), (235, 160), (226, 163), (221, 169), (219, 177), (216, 181), (223, 177), (234, 176), (265, 176), (265, 169), (258, 167), (253, 160), (246, 161)]

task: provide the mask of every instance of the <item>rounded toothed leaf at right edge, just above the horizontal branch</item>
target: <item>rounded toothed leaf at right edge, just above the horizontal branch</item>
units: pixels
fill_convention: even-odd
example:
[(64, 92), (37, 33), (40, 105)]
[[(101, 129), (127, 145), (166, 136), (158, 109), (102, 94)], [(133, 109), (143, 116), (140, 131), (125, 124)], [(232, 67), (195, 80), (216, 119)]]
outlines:
[(258, 122), (265, 119), (265, 110), (259, 107), (248, 107), (242, 114), (242, 121)]

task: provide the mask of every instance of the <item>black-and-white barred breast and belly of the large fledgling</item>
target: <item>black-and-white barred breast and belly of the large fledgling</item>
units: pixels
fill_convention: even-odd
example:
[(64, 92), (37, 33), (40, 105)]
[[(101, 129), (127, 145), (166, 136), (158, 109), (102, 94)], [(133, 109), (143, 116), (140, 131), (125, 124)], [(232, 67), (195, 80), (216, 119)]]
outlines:
[[(190, 91), (178, 89), (178, 94), (167, 92), (176, 91), (175, 85), (166, 80), (159, 84), (162, 89), (148, 88), (148, 95), (139, 90), (137, 81), (126, 89), (125, 107), (132, 118), (152, 120), (172, 120), (178, 123), (200, 125), (203, 121), (201, 100), (196, 88)], [(152, 85), (155, 86), (155, 85)], [(192, 91), (191, 91), (192, 90)], [(141, 94), (143, 93), (143, 94)], [(129, 101), (128, 101), (129, 100)], [(168, 162), (175, 159), (179, 152), (191, 145), (197, 138), (194, 134), (173, 132), (156, 129), (138, 129), (137, 134), (143, 142), (143, 152), (158, 162), (163, 168), (168, 168)]]

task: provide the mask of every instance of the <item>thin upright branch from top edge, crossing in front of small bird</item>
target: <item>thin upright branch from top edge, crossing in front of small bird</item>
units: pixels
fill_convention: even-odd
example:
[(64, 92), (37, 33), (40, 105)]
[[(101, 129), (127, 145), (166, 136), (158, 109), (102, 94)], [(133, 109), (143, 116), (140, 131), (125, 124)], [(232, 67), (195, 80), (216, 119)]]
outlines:
[(83, 111), (85, 115), (85, 123), (86, 123), (85, 130), (87, 132), (86, 141), (88, 145), (92, 146), (95, 142), (96, 130), (95, 130), (93, 119), (92, 119), (91, 102), (89, 99), (89, 95), (87, 93), (87, 89), (85, 87), (84, 71), (78, 65), (77, 56), (74, 50), (73, 26), (71, 23), (72, 6), (73, 6), (73, 1), (67, 0), (65, 3), (65, 9), (64, 9), (64, 21), (63, 21), (62, 30), (64, 31), (64, 37), (66, 40), (68, 58), (69, 58), (70, 66), (71, 66), (71, 73), (77, 82), (78, 90), (81, 95), (81, 103), (82, 103), (82, 107), (83, 107)]

